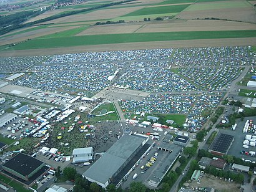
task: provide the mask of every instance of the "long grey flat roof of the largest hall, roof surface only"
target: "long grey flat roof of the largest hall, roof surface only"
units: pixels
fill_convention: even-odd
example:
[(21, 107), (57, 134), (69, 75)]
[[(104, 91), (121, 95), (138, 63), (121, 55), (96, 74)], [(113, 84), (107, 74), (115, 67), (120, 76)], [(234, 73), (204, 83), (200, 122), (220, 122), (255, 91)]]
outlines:
[(99, 158), (83, 176), (105, 184), (144, 142), (144, 137), (124, 135)]

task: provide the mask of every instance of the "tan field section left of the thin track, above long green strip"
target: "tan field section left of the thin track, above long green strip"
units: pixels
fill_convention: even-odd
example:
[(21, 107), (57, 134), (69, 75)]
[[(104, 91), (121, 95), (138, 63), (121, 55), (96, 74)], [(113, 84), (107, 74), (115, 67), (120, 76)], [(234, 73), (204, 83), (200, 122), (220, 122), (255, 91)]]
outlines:
[(77, 34), (77, 36), (133, 33), (141, 26), (142, 24), (111, 24), (102, 26), (92, 26), (89, 29), (80, 32), (79, 34)]

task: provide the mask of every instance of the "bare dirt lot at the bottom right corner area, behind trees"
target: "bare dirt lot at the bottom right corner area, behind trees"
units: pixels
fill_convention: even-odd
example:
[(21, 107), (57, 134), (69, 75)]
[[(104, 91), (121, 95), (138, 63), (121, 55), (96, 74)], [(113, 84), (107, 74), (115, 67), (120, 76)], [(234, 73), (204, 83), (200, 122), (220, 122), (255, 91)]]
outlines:
[(192, 181), (189, 186), (202, 186), (202, 187), (209, 187), (214, 188), (220, 192), (239, 192), (240, 187), (239, 184), (234, 182), (225, 181), (224, 179), (220, 180), (219, 178), (215, 178), (211, 175), (204, 175), (201, 179), (201, 182), (198, 184), (197, 181)]

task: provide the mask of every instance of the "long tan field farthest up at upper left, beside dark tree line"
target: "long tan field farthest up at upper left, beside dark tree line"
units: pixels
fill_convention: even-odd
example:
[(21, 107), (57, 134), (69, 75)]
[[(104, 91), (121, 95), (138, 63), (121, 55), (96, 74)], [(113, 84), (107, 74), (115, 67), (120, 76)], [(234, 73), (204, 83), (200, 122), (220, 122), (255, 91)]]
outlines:
[(79, 21), (90, 21), (90, 20), (99, 20), (99, 19), (112, 19), (116, 17), (123, 16), (129, 12), (136, 11), (143, 7), (126, 7), (119, 9), (102, 9), (84, 14), (76, 14), (73, 16), (61, 17), (59, 19), (54, 19), (52, 21), (44, 22), (44, 24), (54, 22), (56, 24), (62, 22), (79, 22)]

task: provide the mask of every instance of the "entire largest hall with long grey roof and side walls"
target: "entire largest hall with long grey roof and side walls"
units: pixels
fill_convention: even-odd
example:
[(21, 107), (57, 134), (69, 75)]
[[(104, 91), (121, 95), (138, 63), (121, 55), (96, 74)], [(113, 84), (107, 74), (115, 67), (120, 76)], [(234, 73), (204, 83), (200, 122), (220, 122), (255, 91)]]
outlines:
[[(83, 176), (103, 188), (110, 183), (118, 185), (122, 178), (130, 173), (137, 161), (147, 153), (150, 146), (146, 144), (148, 140), (149, 137), (145, 135), (124, 135), (84, 172)], [(144, 151), (145, 146), (147, 147)]]

